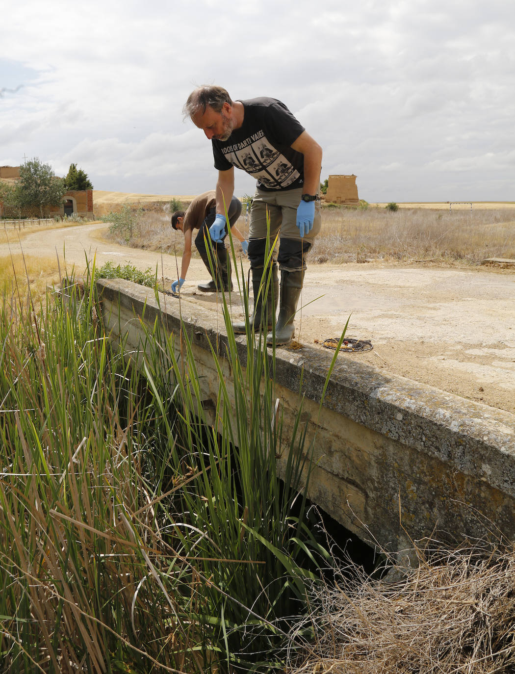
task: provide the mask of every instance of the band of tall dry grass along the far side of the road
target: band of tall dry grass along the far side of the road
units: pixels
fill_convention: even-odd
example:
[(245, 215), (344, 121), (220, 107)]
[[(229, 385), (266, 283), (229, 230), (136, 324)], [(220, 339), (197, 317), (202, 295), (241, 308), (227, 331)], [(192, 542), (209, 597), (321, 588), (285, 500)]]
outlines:
[[(168, 205), (142, 212), (129, 245), (180, 254), (183, 235), (170, 225)], [(237, 223), (248, 232), (244, 218)], [(125, 243), (125, 242), (123, 242)], [(515, 258), (515, 208), (366, 210), (324, 207), (310, 263), (423, 262), (470, 266), (487, 257)]]

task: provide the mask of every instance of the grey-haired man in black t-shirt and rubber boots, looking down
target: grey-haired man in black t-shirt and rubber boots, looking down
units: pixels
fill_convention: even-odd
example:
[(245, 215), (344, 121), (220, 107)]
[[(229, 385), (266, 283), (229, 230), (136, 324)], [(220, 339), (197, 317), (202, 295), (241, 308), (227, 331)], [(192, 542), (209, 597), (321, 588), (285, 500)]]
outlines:
[[(293, 321), (306, 270), (305, 256), (320, 231), (322, 148), (284, 103), (275, 98), (233, 101), (222, 87), (201, 86), (189, 94), (183, 113), (212, 142), (214, 166), (218, 169), (216, 217), (210, 227), (213, 241), (218, 241), (225, 231), (224, 203), (233, 197), (234, 167), (257, 181), (249, 226), (254, 295), (251, 321), (256, 330), (271, 330), (279, 294), (279, 266), (275, 336), (276, 344), (287, 344), (295, 334)], [(270, 270), (265, 270), (266, 247), (278, 234), (277, 259), (274, 257)], [(262, 279), (267, 276), (271, 278), (264, 293)], [(233, 328), (236, 333), (244, 333), (247, 326), (235, 324)], [(272, 333), (266, 342), (274, 342)]]

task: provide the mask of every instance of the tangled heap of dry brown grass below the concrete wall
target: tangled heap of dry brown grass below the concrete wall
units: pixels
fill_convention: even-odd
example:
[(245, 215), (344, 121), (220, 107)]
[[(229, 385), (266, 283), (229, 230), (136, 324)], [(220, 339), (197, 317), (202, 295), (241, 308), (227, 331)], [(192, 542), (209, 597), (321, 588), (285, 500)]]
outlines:
[[(515, 550), (461, 547), (419, 553), (403, 580), (371, 580), (352, 568), (313, 588), (313, 639), (292, 674), (515, 671)], [(348, 570), (346, 570), (348, 571)]]

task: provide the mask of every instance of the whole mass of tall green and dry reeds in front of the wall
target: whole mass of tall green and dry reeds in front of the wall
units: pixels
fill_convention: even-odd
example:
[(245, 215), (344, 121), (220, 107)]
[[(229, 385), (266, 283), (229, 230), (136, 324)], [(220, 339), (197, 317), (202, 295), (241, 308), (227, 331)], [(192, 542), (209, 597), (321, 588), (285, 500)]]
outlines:
[[(220, 295), (204, 410), (186, 330), (142, 321), (140, 350), (113, 349), (89, 272), (37, 313), (30, 298), (1, 308), (0, 668), (280, 667), (328, 562), (305, 513), (301, 397), (286, 437), (275, 352), (249, 326), (241, 357)], [(248, 319), (243, 268), (238, 283)]]

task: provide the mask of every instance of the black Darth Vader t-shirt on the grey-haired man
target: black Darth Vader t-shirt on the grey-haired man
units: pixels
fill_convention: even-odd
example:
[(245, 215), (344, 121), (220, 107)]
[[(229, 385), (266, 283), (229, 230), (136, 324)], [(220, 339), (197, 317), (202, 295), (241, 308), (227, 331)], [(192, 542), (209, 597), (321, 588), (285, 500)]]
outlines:
[(304, 156), (291, 144), (305, 131), (276, 98), (251, 98), (243, 103), (243, 124), (229, 140), (212, 140), (214, 167), (241, 168), (266, 191), (295, 189), (304, 183)]

